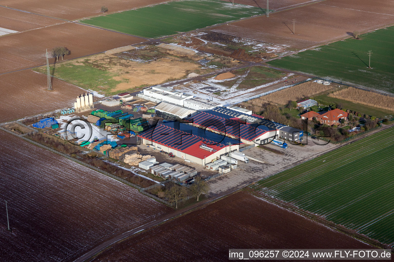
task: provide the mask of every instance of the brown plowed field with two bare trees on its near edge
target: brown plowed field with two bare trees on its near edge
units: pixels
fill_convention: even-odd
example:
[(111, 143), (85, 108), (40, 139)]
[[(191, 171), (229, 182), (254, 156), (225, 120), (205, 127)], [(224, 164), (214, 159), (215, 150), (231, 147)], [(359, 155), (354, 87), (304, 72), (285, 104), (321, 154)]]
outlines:
[(142, 41), (141, 38), (71, 22), (6, 35), (0, 41), (0, 73), (45, 64), (46, 48), (65, 46), (71, 55), (64, 58), (72, 59)]

